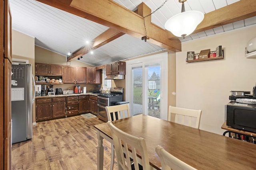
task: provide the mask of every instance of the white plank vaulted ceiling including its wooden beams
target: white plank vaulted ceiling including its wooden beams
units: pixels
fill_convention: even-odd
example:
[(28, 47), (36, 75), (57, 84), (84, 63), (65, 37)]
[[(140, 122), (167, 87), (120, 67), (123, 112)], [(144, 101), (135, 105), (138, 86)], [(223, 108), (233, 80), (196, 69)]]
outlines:
[(9, 1), (13, 29), (35, 37), (39, 47), (64, 57), (72, 52), (68, 60), (83, 56), (80, 61), (94, 66), (164, 49), (178, 52), (183, 41), (256, 24), (254, 0), (187, 0), (186, 11), (201, 11), (204, 20), (192, 35), (177, 38), (164, 29), (164, 23), (180, 13), (181, 4), (168, 0), (146, 18), (150, 39), (145, 42), (141, 40), (145, 36), (142, 16), (155, 11), (165, 0)]

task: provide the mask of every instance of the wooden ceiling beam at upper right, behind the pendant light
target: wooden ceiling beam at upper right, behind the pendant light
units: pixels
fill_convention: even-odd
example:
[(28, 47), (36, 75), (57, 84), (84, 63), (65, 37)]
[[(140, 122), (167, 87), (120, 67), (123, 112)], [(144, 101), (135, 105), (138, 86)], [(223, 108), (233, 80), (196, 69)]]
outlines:
[[(204, 14), (204, 20), (196, 27), (196, 30), (193, 33), (199, 33), (253, 16), (256, 16), (255, 0), (240, 0)], [(177, 39), (178, 37), (175, 37), (169, 32), (168, 38)]]

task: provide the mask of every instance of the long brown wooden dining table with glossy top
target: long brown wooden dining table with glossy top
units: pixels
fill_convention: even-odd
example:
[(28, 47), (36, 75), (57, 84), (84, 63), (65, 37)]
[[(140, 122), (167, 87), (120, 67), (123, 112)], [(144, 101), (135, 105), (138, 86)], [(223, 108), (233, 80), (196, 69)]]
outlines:
[[(150, 166), (160, 170), (155, 148), (167, 152), (198, 170), (256, 169), (256, 144), (180, 125), (148, 115), (136, 115), (112, 123), (122, 131), (146, 140)], [(107, 123), (95, 125), (98, 136), (98, 170), (103, 169), (102, 140), (112, 142)]]

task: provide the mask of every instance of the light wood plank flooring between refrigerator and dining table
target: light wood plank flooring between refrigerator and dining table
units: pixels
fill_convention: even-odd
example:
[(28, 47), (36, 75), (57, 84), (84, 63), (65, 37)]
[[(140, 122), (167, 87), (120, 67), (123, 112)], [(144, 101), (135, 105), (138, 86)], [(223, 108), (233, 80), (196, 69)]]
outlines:
[[(96, 170), (97, 117), (78, 115), (38, 122), (33, 138), (12, 145), (13, 170)], [(110, 169), (111, 145), (103, 140), (104, 169)], [(114, 169), (117, 169), (116, 163)]]

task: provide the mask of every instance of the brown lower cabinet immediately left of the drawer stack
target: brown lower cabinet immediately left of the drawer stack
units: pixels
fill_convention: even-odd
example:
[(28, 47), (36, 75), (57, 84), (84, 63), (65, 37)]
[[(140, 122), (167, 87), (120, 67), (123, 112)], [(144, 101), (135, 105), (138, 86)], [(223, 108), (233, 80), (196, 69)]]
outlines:
[(66, 115), (65, 97), (52, 98), (52, 118), (65, 117), (65, 115)]

